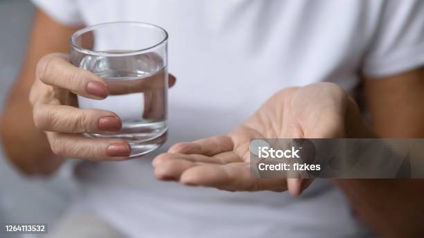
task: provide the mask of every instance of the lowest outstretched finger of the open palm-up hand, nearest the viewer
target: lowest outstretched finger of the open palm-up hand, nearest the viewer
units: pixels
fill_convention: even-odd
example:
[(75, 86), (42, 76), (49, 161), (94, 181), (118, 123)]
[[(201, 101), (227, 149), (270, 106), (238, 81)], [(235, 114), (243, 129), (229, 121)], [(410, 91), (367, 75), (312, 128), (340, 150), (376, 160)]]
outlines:
[(285, 179), (261, 179), (250, 176), (246, 163), (198, 165), (188, 168), (180, 177), (185, 185), (216, 187), (228, 191), (287, 190)]

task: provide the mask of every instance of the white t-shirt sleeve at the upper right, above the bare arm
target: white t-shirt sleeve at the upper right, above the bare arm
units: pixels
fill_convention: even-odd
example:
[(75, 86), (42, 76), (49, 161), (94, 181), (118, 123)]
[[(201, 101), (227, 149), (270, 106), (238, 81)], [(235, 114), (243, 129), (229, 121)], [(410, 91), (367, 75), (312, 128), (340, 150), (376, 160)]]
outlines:
[(424, 1), (387, 0), (364, 58), (367, 77), (396, 75), (424, 65)]

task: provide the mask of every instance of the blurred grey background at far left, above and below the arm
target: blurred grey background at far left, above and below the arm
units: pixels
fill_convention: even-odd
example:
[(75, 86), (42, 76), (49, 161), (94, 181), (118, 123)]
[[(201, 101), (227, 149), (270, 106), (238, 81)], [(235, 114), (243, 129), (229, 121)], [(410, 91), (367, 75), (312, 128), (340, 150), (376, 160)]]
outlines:
[[(19, 71), (33, 12), (34, 7), (27, 0), (0, 0), (1, 102), (6, 101)], [(3, 103), (0, 109), (3, 111)], [(75, 189), (69, 168), (63, 167), (54, 178), (25, 178), (12, 168), (0, 148), (0, 225), (10, 222), (53, 224), (69, 205)], [(0, 237), (8, 236), (0, 234)]]

